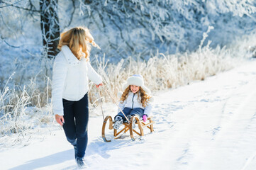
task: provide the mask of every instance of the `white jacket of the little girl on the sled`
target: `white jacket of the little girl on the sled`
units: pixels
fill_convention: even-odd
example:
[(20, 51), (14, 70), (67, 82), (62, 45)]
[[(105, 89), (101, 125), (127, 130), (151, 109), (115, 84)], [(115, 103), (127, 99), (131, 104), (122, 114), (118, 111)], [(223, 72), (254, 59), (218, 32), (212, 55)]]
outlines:
[[(140, 93), (140, 92), (138, 92)], [(150, 115), (150, 112), (152, 110), (152, 103), (151, 100), (147, 103), (146, 107), (143, 107), (143, 104), (140, 102), (141, 98), (140, 96), (138, 97), (138, 93), (133, 94), (133, 92), (129, 92), (127, 98), (123, 103), (119, 103), (119, 107), (123, 111), (124, 108), (143, 108), (144, 109), (144, 115)], [(151, 99), (151, 98), (150, 98)], [(120, 109), (118, 108), (118, 113), (121, 112)]]

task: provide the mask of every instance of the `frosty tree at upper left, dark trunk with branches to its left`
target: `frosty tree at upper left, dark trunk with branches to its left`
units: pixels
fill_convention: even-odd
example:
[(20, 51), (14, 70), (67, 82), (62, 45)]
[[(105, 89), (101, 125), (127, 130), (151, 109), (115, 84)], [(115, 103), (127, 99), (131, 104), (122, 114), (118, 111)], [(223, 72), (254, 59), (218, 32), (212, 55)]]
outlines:
[[(44, 53), (48, 58), (52, 58), (57, 55), (58, 38), (60, 37), (59, 18), (57, 16), (57, 0), (40, 0), (40, 1), (0, 1), (0, 8), (3, 8), (1, 13), (2, 23), (8, 30), (11, 30), (14, 35), (17, 35), (16, 31), (22, 32), (23, 26), (20, 28), (12, 29), (16, 23), (16, 18), (22, 20), (26, 18), (33, 18), (33, 22), (40, 23), (40, 29), (42, 33)], [(18, 17), (16, 11), (20, 14)], [(4, 18), (4, 16), (6, 18)], [(11, 15), (11, 16), (10, 16)], [(16, 16), (16, 17), (13, 17)], [(38, 19), (40, 16), (40, 20)], [(12, 22), (5, 23), (5, 19), (13, 18)], [(23, 21), (23, 24), (30, 24), (29, 21)], [(4, 37), (4, 33), (1, 33)]]

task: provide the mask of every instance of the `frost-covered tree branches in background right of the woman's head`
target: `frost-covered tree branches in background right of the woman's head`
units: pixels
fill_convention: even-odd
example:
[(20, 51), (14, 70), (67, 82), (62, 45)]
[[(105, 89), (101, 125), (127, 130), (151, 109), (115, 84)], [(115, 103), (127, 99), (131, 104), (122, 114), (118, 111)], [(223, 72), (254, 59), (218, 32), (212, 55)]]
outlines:
[[(256, 11), (251, 0), (101, 0), (79, 6), (84, 8), (79, 13), (84, 25), (96, 30), (109, 57), (143, 58), (157, 51), (195, 50), (209, 26), (214, 29), (208, 40), (226, 45), (234, 35), (254, 28)], [(244, 29), (244, 24), (250, 27)]]

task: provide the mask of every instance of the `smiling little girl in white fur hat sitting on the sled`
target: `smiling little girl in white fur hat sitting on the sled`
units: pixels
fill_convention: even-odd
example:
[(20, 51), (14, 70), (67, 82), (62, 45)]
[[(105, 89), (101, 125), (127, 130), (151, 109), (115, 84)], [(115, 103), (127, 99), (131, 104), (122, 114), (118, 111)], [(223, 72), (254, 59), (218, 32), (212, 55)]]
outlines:
[[(145, 122), (152, 109), (150, 103), (152, 97), (148, 96), (150, 89), (144, 85), (143, 77), (138, 74), (129, 77), (126, 84), (123, 84), (123, 91), (119, 108), (121, 108), (128, 119), (133, 115), (137, 115), (138, 118), (143, 118)], [(126, 121), (119, 108), (118, 115), (115, 116), (114, 120), (114, 129), (120, 128), (123, 122)], [(135, 124), (133, 123), (133, 128), (135, 128), (134, 126)]]

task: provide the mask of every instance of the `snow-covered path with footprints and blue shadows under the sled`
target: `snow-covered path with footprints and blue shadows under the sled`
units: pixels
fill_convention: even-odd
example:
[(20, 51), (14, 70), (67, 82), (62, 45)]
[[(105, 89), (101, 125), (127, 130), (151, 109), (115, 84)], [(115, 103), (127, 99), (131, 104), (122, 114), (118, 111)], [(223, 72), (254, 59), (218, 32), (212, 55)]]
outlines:
[[(256, 169), (256, 60), (154, 95), (155, 132), (134, 142), (128, 134), (104, 142), (102, 116), (90, 117), (86, 169)], [(116, 106), (105, 104), (104, 114)], [(54, 133), (3, 149), (1, 169), (77, 169), (63, 130)]]

